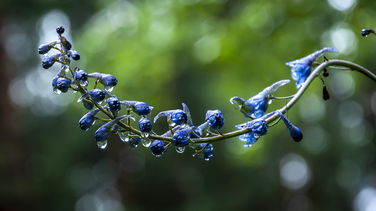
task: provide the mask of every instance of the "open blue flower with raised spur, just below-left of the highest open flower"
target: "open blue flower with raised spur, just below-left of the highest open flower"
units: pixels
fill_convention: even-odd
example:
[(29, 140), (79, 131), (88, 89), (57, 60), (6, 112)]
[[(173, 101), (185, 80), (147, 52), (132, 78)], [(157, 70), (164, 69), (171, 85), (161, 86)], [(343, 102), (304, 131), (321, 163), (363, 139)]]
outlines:
[[(266, 110), (268, 109), (269, 104), (273, 101), (273, 93), (281, 86), (289, 83), (290, 80), (281, 80), (276, 83), (271, 84), (271, 86), (266, 87), (262, 92), (259, 92), (257, 95), (249, 98), (247, 101), (238, 96), (232, 97), (230, 99), (231, 104), (234, 104), (234, 101), (239, 104), (239, 109), (243, 110), (248, 116), (252, 118), (260, 118)], [(270, 99), (268, 99), (270, 98)], [(244, 115), (247, 117), (246, 115)]]

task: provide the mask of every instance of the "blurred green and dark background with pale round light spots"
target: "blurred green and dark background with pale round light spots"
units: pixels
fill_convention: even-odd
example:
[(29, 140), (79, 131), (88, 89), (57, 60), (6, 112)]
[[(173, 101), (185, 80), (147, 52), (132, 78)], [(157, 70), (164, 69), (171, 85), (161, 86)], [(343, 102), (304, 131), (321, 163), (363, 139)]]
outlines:
[[(358, 72), (332, 70), (329, 101), (317, 79), (290, 109), (302, 142), (278, 124), (251, 148), (238, 138), (214, 143), (205, 161), (191, 149), (156, 158), (115, 134), (99, 149), (101, 124), (80, 130), (79, 95), (55, 95), (59, 65), (43, 69), (37, 53), (62, 25), (81, 54), (72, 65), (117, 77), (119, 99), (154, 106), (153, 117), (184, 102), (195, 125), (219, 109), (226, 133), (247, 121), (229, 99), (291, 79), (285, 62), (335, 47), (329, 59), (374, 72), (376, 37), (360, 32), (376, 28), (375, 8), (361, 0), (1, 1), (0, 210), (376, 210), (376, 84)], [(292, 82), (275, 96), (295, 92)], [(157, 123), (158, 134), (168, 130)]]

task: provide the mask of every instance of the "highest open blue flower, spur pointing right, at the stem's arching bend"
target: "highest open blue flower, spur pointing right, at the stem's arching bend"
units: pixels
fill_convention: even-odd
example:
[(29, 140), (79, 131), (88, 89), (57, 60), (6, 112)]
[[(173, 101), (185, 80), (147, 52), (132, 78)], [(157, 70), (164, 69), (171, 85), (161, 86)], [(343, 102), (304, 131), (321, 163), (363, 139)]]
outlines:
[(298, 59), (292, 62), (286, 62), (286, 65), (291, 68), (291, 77), (296, 80), (296, 88), (299, 89), (302, 84), (307, 80), (311, 71), (313, 69), (313, 63), (316, 62), (318, 57), (323, 55), (326, 52), (335, 52), (338, 53), (338, 50), (335, 48), (323, 48), (321, 50), (315, 51), (312, 54), (309, 54), (302, 59)]

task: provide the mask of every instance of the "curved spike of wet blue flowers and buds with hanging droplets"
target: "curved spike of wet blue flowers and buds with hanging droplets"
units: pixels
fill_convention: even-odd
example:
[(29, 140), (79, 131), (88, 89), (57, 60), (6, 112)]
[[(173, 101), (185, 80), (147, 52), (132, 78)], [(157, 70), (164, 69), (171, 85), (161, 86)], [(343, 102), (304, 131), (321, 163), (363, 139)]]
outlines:
[[(196, 127), (191, 119), (190, 111), (184, 103), (182, 103), (183, 109), (167, 110), (155, 116), (153, 120), (154, 124), (162, 116), (165, 116), (165, 120), (159, 120), (159, 122), (163, 122), (166, 124), (166, 127), (169, 128), (169, 130), (162, 135), (156, 134), (153, 132), (153, 124), (151, 121), (153, 107), (140, 101), (121, 101), (117, 96), (112, 95), (110, 92), (118, 82), (113, 75), (99, 72), (87, 73), (77, 66), (71, 68), (71, 60), (79, 60), (80, 54), (72, 50), (71, 43), (67, 38), (62, 36), (64, 27), (57, 27), (56, 32), (58, 33), (57, 41), (42, 44), (38, 47), (39, 54), (44, 56), (42, 59), (42, 67), (49, 69), (55, 63), (61, 64), (61, 69), (52, 79), (53, 91), (56, 94), (66, 93), (68, 90), (80, 93), (77, 102), (82, 102), (83, 107), (89, 110), (89, 112), (83, 115), (79, 120), (79, 127), (82, 130), (89, 130), (89, 128), (97, 122), (96, 120), (105, 122), (94, 133), (94, 140), (100, 148), (105, 148), (109, 136), (111, 133), (115, 133), (118, 134), (121, 141), (127, 142), (130, 147), (136, 147), (139, 143), (142, 143), (145, 147), (150, 147), (150, 151), (155, 157), (161, 157), (170, 146), (174, 146), (179, 153), (184, 152), (186, 146), (189, 146), (196, 151), (194, 155), (209, 160), (213, 155), (212, 143), (233, 137), (234, 133), (223, 134), (220, 131), (224, 126), (224, 116), (220, 110), (208, 110), (205, 118), (203, 118), (202, 115), (203, 123)], [(370, 33), (374, 33), (374, 31), (371, 29), (362, 31), (363, 36), (367, 36)], [(376, 33), (374, 34), (376, 35)], [(49, 54), (52, 49), (58, 52)], [(323, 78), (319, 75), (318, 71), (312, 72), (314, 65), (318, 65), (318, 57), (326, 52), (338, 51), (335, 48), (323, 48), (302, 59), (287, 62), (286, 65), (291, 66), (291, 76), (296, 81), (297, 89), (305, 86), (308, 78), (310, 78), (309, 83), (311, 83), (311, 79), (313, 78), (310, 77), (311, 75), (318, 76), (323, 81), (323, 98), (328, 100), (329, 93), (327, 92)], [(324, 57), (324, 59), (325, 62), (329, 63), (326, 57)], [(323, 71), (324, 77), (329, 75), (326, 67), (319, 69), (319, 71), (320, 70)], [(367, 74), (369, 73), (367, 72)], [(369, 75), (369, 77), (374, 77), (376, 81), (376, 76)], [(92, 89), (88, 89), (89, 78), (94, 81)], [(103, 89), (101, 89), (101, 87), (97, 88), (98, 83), (103, 85)], [(282, 119), (285, 123), (295, 142), (302, 140), (302, 131), (291, 124), (283, 115), (283, 112), (287, 112), (289, 109), (287, 105), (280, 110), (266, 113), (274, 99), (293, 98), (290, 101), (290, 105), (293, 105), (295, 101), (299, 99), (299, 97), (295, 97), (295, 95), (279, 98), (273, 96), (274, 92), (276, 92), (279, 87), (288, 83), (290, 83), (290, 80), (277, 81), (248, 100), (238, 96), (234, 96), (230, 99), (230, 103), (234, 104), (234, 102), (237, 102), (237, 109), (246, 118), (250, 119), (250, 121), (235, 126), (239, 129), (239, 131), (236, 132), (239, 139), (246, 142), (244, 147), (250, 147), (255, 144), (257, 140), (267, 134), (271, 126), (278, 123), (279, 119)], [(305, 89), (301, 90), (302, 92), (298, 91), (299, 95), (301, 95)], [(296, 95), (298, 95), (298, 93)], [(120, 115), (121, 112), (125, 112), (125, 114)], [(133, 113), (136, 117), (132, 115)], [(106, 116), (106, 118), (99, 118), (97, 116), (99, 114)], [(130, 120), (136, 121), (136, 118), (138, 118), (139, 121), (138, 127), (135, 128), (132, 127)], [(275, 121), (275, 123), (271, 124), (273, 121)]]

